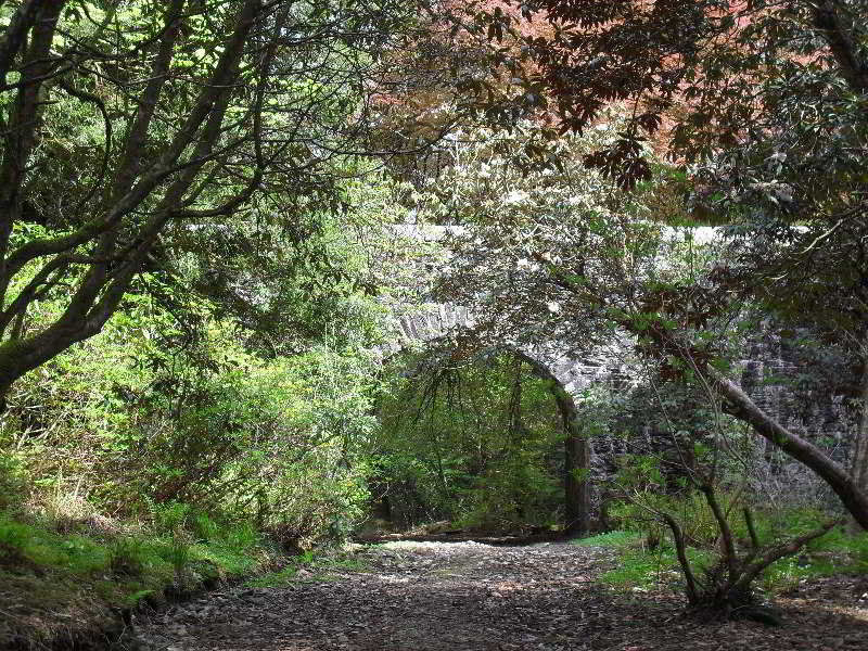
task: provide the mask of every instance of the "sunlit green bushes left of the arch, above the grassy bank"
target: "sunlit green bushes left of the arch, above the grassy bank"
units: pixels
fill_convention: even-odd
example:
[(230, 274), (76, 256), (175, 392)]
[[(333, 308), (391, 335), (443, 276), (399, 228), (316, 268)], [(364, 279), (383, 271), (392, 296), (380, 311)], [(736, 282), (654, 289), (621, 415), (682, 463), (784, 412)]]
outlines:
[(16, 385), (3, 495), (21, 499), (29, 481), (46, 509), (75, 495), (89, 505), (81, 516), (111, 511), (205, 539), (217, 521), (345, 536), (366, 498), (359, 454), (373, 425), (361, 343), (263, 360), (219, 322), (173, 348), (166, 319), (138, 304)]

